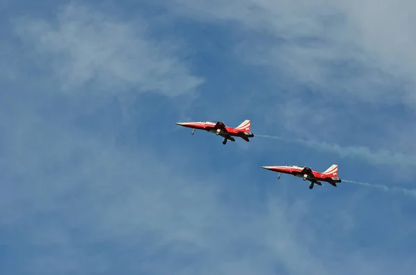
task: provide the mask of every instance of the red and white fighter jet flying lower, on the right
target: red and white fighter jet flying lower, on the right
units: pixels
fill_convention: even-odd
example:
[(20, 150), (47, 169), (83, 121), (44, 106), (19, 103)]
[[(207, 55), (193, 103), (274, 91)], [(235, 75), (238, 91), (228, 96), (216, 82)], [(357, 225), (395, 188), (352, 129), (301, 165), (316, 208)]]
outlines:
[(304, 181), (309, 180), (311, 181), (309, 189), (312, 189), (315, 184), (322, 186), (320, 181), (325, 181), (335, 187), (338, 182), (341, 182), (338, 177), (338, 165), (336, 164), (333, 164), (325, 172), (315, 172), (304, 166), (261, 166), (261, 168), (279, 172), (277, 179), (280, 179), (280, 175), (284, 173), (302, 177)]

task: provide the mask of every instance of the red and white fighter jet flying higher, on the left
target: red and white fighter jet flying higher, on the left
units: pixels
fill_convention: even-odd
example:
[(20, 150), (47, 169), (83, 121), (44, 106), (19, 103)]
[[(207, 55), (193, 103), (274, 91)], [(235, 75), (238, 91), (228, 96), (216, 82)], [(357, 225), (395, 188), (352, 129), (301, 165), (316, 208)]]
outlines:
[(217, 136), (223, 136), (223, 144), (225, 145), (227, 141), (236, 141), (233, 136), (239, 136), (241, 139), (250, 142), (248, 138), (254, 136), (254, 134), (250, 132), (250, 123), (251, 122), (247, 119), (235, 128), (225, 126), (221, 121), (177, 122), (175, 124), (193, 128), (191, 134), (195, 134), (196, 129), (216, 133)]

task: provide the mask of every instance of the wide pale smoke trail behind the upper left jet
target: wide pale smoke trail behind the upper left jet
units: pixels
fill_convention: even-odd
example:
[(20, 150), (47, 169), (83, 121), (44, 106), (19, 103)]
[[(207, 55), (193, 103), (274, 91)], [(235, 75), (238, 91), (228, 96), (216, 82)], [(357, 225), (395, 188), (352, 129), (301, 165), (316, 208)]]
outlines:
[(308, 141), (304, 139), (285, 139), (281, 136), (269, 136), (266, 134), (256, 134), (254, 136), (259, 136), (268, 139), (277, 139), (279, 141), (295, 143), (309, 148), (333, 152), (339, 154), (341, 157), (358, 157), (375, 164), (397, 164), (400, 166), (416, 166), (416, 157), (411, 157), (400, 152), (390, 152), (387, 150), (372, 152), (369, 148), (366, 147), (342, 147), (338, 144), (331, 144), (311, 140)]

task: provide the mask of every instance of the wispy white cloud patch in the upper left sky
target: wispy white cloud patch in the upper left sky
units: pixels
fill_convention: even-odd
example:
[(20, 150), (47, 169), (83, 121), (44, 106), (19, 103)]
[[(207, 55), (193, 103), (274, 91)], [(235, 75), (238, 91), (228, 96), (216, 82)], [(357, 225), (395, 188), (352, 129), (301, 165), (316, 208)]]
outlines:
[(179, 45), (151, 39), (151, 26), (141, 19), (121, 21), (71, 4), (56, 21), (27, 17), (16, 22), (19, 37), (46, 58), (44, 66), (51, 66), (66, 91), (91, 89), (93, 84), (111, 94), (135, 89), (177, 96), (203, 82), (177, 57)]

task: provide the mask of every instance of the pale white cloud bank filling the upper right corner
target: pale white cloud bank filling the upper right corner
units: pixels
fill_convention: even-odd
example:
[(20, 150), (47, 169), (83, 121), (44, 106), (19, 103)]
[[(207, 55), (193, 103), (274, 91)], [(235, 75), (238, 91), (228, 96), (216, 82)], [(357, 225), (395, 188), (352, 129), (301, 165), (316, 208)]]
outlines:
[[(413, 1), (389, 0), (379, 5), (372, 0), (244, 0), (216, 4), (175, 0), (166, 5), (192, 19), (229, 27), (234, 25), (227, 23), (237, 23), (248, 35), (262, 34), (257, 39), (247, 37), (239, 47), (241, 58), (278, 67), (299, 81), (318, 85), (325, 94), (358, 96), (379, 104), (390, 104), (386, 98), (403, 102), (414, 96)], [(334, 75), (339, 66), (350, 66), (343, 72), (345, 76)], [(349, 85), (340, 86), (340, 78)], [(390, 96), (389, 91), (374, 89), (391, 85), (392, 80), (410, 83), (404, 89), (406, 94), (396, 91)]]

